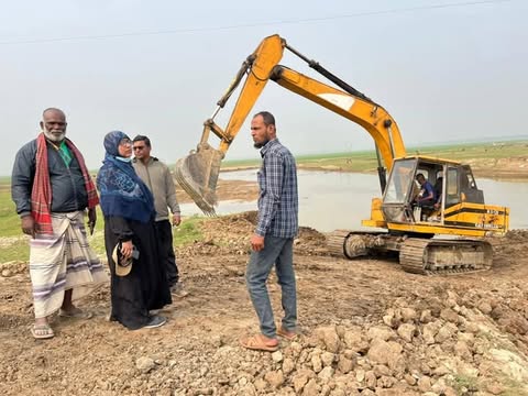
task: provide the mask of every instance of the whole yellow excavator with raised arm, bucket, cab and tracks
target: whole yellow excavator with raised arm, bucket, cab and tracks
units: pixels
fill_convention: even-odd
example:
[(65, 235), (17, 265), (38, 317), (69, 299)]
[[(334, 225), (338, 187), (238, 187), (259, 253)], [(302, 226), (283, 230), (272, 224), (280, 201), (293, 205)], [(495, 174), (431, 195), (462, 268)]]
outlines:
[[(279, 65), (285, 50), (336, 87)], [(243, 80), (233, 112), (222, 129), (215, 117)], [(405, 271), (425, 275), (475, 272), (492, 266), (493, 249), (484, 237), (507, 232), (509, 209), (484, 204), (484, 194), (477, 188), (470, 166), (431, 156), (407, 155), (398, 125), (382, 106), (278, 35), (264, 38), (243, 62), (217, 102), (213, 116), (204, 123), (197, 150), (176, 163), (177, 182), (205, 213), (215, 215), (220, 163), (270, 80), (360, 124), (374, 140), (382, 198), (372, 200), (371, 218), (362, 224), (384, 230), (334, 231), (328, 235), (331, 253), (353, 258), (376, 252), (398, 252)], [(218, 148), (208, 142), (211, 132), (220, 139)], [(424, 191), (417, 176), (435, 186), (435, 200), (426, 202), (429, 205), (417, 204), (417, 197)]]

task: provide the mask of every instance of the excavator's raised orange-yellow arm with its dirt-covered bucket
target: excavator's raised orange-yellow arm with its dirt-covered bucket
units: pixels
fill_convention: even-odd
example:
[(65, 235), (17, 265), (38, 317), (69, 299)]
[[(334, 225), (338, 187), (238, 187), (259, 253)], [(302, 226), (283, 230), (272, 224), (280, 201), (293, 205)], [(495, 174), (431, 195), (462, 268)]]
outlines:
[[(278, 65), (284, 48), (306, 61), (311, 68), (330, 79), (339, 88)], [(215, 122), (215, 117), (226, 106), (244, 77), (244, 85), (233, 112), (227, 127), (222, 129)], [(197, 150), (176, 163), (176, 179), (206, 215), (215, 213), (220, 163), (268, 80), (363, 127), (374, 139), (381, 188), (382, 191), (385, 189), (386, 169), (391, 169), (394, 158), (406, 154), (399, 129), (394, 119), (383, 107), (332, 75), (317, 62), (306, 58), (287, 45), (284, 38), (272, 35), (264, 38), (246, 58), (224, 96), (217, 102), (218, 106), (212, 117), (204, 123), (204, 132)], [(218, 150), (209, 144), (211, 132), (220, 139)]]

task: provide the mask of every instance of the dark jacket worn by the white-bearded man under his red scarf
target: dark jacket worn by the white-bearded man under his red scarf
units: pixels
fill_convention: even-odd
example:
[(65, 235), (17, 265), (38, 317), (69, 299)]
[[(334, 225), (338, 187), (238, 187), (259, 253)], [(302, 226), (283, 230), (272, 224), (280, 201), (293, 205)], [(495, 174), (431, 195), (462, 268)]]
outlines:
[[(73, 154), (73, 153), (72, 153)], [(11, 197), (20, 216), (31, 212), (31, 190), (35, 177), (36, 139), (16, 153), (11, 175)], [(47, 167), (52, 185), (52, 212), (84, 210), (88, 206), (85, 179), (77, 158), (69, 168), (51, 144), (47, 144)]]

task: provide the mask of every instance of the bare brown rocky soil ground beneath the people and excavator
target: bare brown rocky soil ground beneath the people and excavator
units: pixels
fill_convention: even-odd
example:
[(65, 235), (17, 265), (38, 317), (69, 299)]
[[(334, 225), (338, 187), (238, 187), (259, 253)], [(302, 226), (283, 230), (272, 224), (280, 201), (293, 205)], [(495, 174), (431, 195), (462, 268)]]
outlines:
[[(244, 284), (254, 219), (210, 219), (206, 241), (177, 251), (190, 294), (153, 330), (109, 322), (103, 287), (79, 301), (92, 319), (55, 318), (56, 337), (36, 341), (26, 264), (0, 264), (0, 393), (528, 395), (528, 231), (492, 240), (491, 271), (425, 277), (392, 257), (328, 256), (324, 235), (302, 229), (300, 336), (266, 353), (239, 345), (257, 331)], [(268, 287), (278, 321), (274, 276)]]

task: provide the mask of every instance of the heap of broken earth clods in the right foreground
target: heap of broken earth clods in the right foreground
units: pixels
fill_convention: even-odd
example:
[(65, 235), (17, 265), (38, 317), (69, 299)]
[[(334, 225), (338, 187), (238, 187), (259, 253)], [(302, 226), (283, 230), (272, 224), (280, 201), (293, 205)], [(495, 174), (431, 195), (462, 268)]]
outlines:
[[(528, 359), (477, 307), (444, 298), (394, 301), (380, 322), (320, 326), (274, 353), (221, 338), (141, 356), (124, 391), (174, 395), (528, 394)], [(360, 322), (360, 324), (358, 324)], [(140, 380), (141, 378), (141, 380)], [(162, 392), (163, 393), (163, 392)]]

